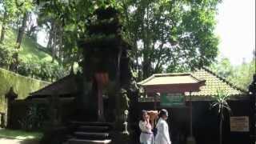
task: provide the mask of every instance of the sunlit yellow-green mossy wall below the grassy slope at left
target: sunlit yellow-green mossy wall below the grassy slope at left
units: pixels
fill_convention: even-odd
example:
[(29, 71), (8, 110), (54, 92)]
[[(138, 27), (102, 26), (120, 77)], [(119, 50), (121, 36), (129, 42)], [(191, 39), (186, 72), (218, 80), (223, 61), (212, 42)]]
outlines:
[(50, 82), (24, 77), (0, 68), (0, 111), (4, 111), (5, 94), (10, 90), (11, 86), (14, 87), (14, 92), (18, 94), (18, 99), (24, 99), (31, 92), (49, 84)]

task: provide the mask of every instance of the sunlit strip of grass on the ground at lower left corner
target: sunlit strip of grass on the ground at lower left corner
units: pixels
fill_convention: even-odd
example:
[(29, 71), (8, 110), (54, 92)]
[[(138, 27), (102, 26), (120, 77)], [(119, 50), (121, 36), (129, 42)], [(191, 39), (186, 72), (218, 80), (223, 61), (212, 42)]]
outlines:
[(2, 138), (14, 138), (14, 139), (20, 139), (20, 140), (41, 139), (42, 138), (42, 133), (28, 132), (28, 131), (23, 131), (23, 130), (0, 129), (0, 137), (2, 137)]

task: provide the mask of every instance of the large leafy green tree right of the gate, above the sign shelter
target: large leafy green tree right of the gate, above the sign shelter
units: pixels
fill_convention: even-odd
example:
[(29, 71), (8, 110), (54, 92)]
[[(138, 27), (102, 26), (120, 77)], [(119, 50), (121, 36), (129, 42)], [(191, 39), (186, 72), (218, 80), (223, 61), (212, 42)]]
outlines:
[(122, 1), (127, 33), (142, 77), (208, 66), (218, 51), (218, 0)]

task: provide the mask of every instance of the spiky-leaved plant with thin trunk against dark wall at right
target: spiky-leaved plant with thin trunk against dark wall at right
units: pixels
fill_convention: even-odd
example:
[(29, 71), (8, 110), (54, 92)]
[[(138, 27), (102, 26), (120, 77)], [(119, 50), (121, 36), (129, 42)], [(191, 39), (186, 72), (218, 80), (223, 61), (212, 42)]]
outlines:
[(218, 89), (217, 90), (217, 95), (213, 97), (214, 101), (210, 109), (217, 107), (218, 109), (218, 116), (219, 116), (219, 144), (222, 144), (222, 125), (224, 121), (224, 111), (227, 110), (228, 113), (230, 114), (231, 109), (229, 104), (226, 102), (227, 99), (229, 98), (229, 95), (225, 93), (224, 90)]

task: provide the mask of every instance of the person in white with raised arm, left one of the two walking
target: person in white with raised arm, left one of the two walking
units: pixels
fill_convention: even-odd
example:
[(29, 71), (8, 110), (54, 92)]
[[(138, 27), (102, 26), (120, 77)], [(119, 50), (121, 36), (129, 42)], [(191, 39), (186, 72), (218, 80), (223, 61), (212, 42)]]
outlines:
[(147, 114), (146, 110), (142, 110), (142, 118), (139, 121), (138, 126), (142, 131), (139, 137), (141, 144), (154, 144), (154, 134), (150, 124), (150, 116)]

